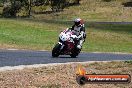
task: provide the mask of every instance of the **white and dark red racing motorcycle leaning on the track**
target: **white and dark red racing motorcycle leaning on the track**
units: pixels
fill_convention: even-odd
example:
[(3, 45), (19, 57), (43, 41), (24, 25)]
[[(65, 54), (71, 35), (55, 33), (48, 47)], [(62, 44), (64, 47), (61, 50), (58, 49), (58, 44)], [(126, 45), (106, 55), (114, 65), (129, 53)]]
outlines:
[(78, 37), (72, 31), (65, 29), (59, 34), (59, 42), (52, 50), (52, 57), (70, 55), (72, 58), (76, 58), (80, 53), (80, 50), (76, 47), (78, 42)]

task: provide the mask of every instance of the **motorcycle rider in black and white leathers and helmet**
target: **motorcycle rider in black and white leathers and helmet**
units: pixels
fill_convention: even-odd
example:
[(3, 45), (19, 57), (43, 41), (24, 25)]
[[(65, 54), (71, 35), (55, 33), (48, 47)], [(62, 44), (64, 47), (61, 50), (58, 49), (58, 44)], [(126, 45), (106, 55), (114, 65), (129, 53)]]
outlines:
[(69, 28), (69, 30), (73, 31), (75, 35), (77, 35), (79, 42), (77, 44), (77, 48), (81, 50), (82, 44), (85, 41), (86, 33), (85, 33), (85, 26), (82, 19), (77, 18), (74, 20), (74, 25)]

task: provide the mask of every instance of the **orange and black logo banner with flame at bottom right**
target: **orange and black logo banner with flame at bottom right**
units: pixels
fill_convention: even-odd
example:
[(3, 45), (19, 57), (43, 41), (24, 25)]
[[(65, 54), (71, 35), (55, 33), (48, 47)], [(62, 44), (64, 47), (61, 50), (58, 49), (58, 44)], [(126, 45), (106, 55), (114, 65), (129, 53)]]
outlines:
[(130, 83), (131, 76), (128, 74), (86, 74), (86, 70), (79, 66), (76, 80), (80, 85), (86, 83)]

